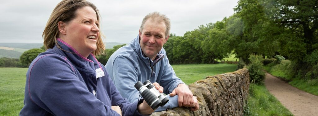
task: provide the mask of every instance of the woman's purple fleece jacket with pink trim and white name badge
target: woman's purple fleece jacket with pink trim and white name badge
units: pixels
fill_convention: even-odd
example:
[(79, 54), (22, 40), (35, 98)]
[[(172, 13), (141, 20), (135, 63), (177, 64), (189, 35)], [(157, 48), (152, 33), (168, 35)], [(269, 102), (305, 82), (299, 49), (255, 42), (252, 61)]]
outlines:
[(20, 116), (115, 116), (111, 106), (116, 105), (123, 116), (141, 115), (137, 105), (143, 100), (122, 98), (93, 54), (85, 58), (63, 40), (58, 44), (63, 50), (55, 46), (31, 63)]

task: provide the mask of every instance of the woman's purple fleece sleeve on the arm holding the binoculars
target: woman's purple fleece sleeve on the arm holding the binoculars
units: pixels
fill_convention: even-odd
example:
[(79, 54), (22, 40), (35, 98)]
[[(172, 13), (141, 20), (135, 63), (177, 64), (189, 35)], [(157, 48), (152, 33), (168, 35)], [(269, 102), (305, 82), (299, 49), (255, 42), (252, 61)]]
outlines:
[[(105, 72), (105, 74), (107, 75), (107, 77), (109, 77), (107, 72)], [(119, 106), (121, 108), (123, 116), (148, 116), (140, 114), (137, 110), (138, 105), (142, 103), (143, 99), (141, 99), (139, 103), (137, 103), (137, 101), (130, 103), (126, 98), (123, 98), (121, 96), (110, 78), (108, 78), (108, 83), (111, 87), (112, 106)]]

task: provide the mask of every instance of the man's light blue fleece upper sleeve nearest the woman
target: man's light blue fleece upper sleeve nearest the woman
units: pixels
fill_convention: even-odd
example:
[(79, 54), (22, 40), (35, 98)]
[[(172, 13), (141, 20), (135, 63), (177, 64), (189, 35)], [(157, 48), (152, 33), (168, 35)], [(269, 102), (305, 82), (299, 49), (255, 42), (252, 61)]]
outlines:
[(133, 59), (125, 55), (118, 56), (113, 63), (114, 84), (122, 97), (131, 103), (138, 101), (139, 97), (139, 91), (134, 86), (138, 82), (137, 66)]

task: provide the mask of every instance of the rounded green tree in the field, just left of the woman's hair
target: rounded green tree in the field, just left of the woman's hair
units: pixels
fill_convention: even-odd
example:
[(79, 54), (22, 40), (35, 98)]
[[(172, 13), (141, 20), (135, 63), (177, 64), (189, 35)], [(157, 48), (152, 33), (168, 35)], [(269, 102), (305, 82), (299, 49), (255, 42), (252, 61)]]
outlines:
[(42, 52), (44, 52), (44, 50), (40, 48), (34, 48), (22, 53), (22, 55), (20, 56), (20, 62), (23, 65), (23, 67), (29, 67), (31, 62), (38, 56), (38, 54)]

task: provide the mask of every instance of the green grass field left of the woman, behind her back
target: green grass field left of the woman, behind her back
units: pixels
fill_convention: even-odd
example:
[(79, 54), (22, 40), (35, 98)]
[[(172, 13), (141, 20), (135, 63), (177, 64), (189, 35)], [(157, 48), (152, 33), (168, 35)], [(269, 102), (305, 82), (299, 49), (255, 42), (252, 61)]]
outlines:
[(17, 116), (23, 107), (28, 68), (0, 68), (0, 115)]

